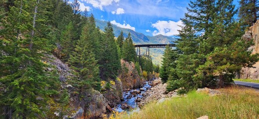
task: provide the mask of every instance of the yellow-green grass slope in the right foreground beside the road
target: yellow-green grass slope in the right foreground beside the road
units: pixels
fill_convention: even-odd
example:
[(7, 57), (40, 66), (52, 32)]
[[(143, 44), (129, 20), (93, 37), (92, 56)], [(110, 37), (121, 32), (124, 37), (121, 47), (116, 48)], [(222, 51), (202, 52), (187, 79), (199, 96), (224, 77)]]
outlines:
[(221, 89), (220, 96), (192, 91), (187, 97), (144, 106), (138, 113), (120, 114), (111, 119), (259, 119), (259, 92), (243, 87)]

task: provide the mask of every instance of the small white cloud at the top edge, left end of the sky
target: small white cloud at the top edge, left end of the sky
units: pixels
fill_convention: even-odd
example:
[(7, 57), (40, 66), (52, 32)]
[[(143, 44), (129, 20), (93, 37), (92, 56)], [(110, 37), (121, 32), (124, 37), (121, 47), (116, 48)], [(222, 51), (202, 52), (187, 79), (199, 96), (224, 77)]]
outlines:
[(93, 5), (93, 7), (95, 8), (100, 8), (101, 10), (103, 10), (103, 6), (108, 6), (111, 5), (112, 2), (119, 2), (120, 0), (83, 0), (86, 1), (87, 3), (90, 3)]

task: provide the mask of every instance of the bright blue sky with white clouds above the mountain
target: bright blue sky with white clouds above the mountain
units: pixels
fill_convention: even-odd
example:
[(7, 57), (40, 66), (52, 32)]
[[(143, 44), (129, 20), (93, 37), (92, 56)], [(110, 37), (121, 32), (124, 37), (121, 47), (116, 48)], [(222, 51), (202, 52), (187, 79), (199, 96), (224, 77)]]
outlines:
[[(72, 1), (72, 0), (70, 0)], [(148, 36), (178, 34), (190, 0), (78, 0), (96, 19)], [(234, 0), (238, 5), (238, 0)]]

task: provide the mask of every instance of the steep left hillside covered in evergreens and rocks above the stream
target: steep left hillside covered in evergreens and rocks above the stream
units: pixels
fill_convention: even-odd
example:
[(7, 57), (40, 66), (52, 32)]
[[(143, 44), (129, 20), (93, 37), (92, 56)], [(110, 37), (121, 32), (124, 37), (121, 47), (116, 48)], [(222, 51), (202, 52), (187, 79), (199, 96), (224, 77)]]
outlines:
[(101, 32), (78, 0), (0, 6), (0, 119), (97, 118), (121, 101), (121, 58), (153, 72), (130, 33), (116, 41), (110, 22)]

